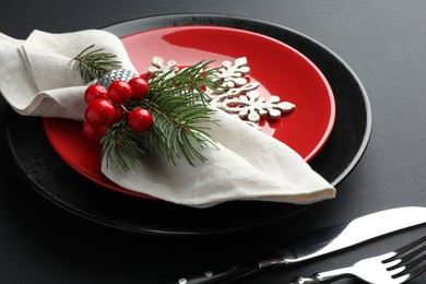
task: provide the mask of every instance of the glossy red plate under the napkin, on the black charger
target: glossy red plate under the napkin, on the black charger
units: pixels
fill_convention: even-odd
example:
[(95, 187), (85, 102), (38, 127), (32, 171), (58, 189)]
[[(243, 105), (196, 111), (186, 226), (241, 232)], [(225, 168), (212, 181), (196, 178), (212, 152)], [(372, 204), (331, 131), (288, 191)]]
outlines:
[[(251, 82), (259, 82), (263, 97), (277, 95), (296, 105), (296, 110), (262, 131), (286, 143), (309, 162), (327, 142), (335, 119), (334, 96), (320, 70), (303, 54), (268, 36), (230, 27), (177, 26), (153, 29), (122, 38), (132, 63), (146, 72), (152, 58), (191, 66), (201, 60), (217, 66), (246, 57)], [(142, 198), (152, 197), (123, 189), (100, 171), (100, 147), (82, 133), (82, 122), (45, 118), (44, 126), (55, 151), (72, 168), (113, 190)]]

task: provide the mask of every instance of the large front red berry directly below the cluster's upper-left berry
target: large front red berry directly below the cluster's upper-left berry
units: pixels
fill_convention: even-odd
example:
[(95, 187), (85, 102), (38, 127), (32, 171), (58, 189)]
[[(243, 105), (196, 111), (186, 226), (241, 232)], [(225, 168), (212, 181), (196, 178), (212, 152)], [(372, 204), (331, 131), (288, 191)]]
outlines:
[(116, 116), (116, 108), (106, 98), (96, 98), (87, 104), (84, 111), (85, 120), (93, 126), (107, 126)]

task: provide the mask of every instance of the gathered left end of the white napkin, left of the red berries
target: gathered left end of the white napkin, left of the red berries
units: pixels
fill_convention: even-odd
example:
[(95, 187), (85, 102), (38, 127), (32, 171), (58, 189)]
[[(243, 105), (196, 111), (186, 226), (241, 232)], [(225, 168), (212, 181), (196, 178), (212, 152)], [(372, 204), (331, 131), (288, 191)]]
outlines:
[(83, 120), (86, 86), (71, 59), (95, 44), (135, 71), (126, 48), (113, 34), (87, 29), (50, 34), (34, 31), (26, 40), (0, 33), (0, 91), (19, 114)]

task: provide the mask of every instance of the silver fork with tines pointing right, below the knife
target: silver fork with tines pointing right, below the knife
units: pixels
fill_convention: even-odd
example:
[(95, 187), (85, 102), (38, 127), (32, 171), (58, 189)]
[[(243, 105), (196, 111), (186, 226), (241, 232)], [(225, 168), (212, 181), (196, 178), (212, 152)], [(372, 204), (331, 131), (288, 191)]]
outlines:
[(295, 277), (287, 284), (331, 283), (353, 277), (371, 284), (401, 284), (426, 271), (426, 236), (394, 251), (364, 259), (352, 267), (315, 273), (310, 277)]

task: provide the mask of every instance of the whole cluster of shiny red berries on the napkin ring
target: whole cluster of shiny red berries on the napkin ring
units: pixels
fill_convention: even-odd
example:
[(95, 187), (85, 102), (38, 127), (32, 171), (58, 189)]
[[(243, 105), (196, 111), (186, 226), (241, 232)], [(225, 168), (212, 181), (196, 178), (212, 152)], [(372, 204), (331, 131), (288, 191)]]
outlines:
[(141, 76), (129, 82), (114, 81), (108, 88), (96, 83), (90, 85), (84, 93), (87, 104), (84, 111), (84, 135), (91, 140), (99, 140), (108, 127), (120, 121), (123, 116), (132, 131), (141, 133), (147, 130), (153, 123), (151, 113), (143, 107), (132, 110), (125, 107), (130, 99), (143, 99), (147, 93), (149, 85)]

